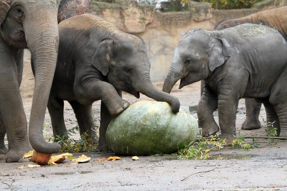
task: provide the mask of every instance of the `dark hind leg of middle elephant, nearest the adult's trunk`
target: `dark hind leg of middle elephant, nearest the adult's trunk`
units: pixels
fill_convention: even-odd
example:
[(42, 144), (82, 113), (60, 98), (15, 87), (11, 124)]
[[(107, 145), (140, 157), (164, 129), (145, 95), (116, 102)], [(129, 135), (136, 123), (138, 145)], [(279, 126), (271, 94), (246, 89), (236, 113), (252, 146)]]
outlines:
[(51, 98), (50, 96), (47, 107), (51, 117), (54, 142), (57, 142), (56, 135), (63, 136), (67, 131), (64, 121), (64, 101), (61, 99)]

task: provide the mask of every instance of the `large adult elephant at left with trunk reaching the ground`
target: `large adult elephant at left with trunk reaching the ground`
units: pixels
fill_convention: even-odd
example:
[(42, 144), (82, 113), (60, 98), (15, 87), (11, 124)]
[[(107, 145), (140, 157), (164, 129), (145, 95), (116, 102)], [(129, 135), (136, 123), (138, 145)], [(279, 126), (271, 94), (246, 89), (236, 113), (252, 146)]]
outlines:
[[(29, 141), (37, 152), (59, 152), (59, 144), (50, 144), (42, 136), (58, 53), (58, 22), (84, 13), (89, 3), (89, 0), (0, 0), (0, 155), (6, 162), (22, 162), (23, 154), (30, 149), (19, 91), (25, 48), (30, 49), (35, 62)], [(9, 149), (4, 145), (5, 133)]]

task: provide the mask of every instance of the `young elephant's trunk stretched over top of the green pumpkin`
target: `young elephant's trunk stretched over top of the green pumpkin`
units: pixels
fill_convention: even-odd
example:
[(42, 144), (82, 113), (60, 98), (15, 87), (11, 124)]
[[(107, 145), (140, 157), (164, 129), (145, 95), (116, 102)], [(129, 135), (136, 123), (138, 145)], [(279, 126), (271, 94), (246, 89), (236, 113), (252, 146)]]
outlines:
[(144, 80), (140, 80), (140, 83), (139, 83), (139, 91), (142, 94), (144, 94), (144, 95), (146, 95), (152, 99), (155, 99), (157, 101), (167, 102), (171, 105), (171, 111), (173, 113), (179, 112), (180, 102), (175, 96), (157, 89), (151, 83), (149, 74), (146, 74), (145, 77), (143, 77), (141, 79), (144, 79)]

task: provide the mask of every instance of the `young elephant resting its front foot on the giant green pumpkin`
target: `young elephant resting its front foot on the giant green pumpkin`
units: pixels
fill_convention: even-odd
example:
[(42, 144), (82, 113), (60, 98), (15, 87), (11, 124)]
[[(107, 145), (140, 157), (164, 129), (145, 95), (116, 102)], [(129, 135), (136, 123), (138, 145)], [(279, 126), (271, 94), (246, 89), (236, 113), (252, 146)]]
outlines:
[(101, 100), (101, 151), (109, 150), (106, 130), (112, 116), (129, 106), (121, 98), (121, 91), (137, 98), (141, 92), (170, 103), (174, 113), (179, 111), (179, 100), (151, 83), (150, 62), (139, 37), (90, 14), (60, 22), (59, 35), (58, 61), (48, 102), (54, 135), (66, 131), (63, 100), (71, 104), (80, 133), (88, 130), (89, 135), (93, 134), (94, 125), (92, 104)]

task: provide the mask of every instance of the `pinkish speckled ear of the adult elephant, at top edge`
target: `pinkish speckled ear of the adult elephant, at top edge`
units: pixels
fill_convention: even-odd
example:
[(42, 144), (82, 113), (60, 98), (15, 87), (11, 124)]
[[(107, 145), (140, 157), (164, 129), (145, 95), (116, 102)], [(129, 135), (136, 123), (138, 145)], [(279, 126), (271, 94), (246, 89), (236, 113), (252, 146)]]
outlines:
[(69, 17), (84, 14), (91, 0), (62, 0), (58, 9), (58, 23)]

